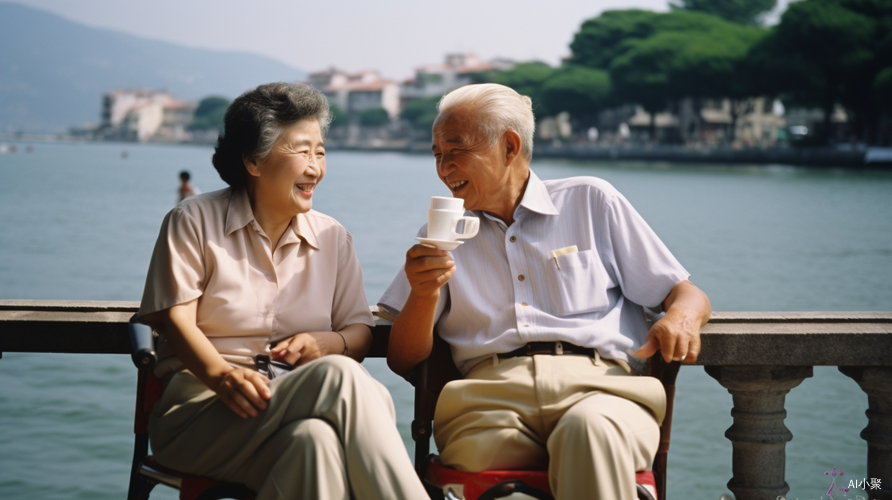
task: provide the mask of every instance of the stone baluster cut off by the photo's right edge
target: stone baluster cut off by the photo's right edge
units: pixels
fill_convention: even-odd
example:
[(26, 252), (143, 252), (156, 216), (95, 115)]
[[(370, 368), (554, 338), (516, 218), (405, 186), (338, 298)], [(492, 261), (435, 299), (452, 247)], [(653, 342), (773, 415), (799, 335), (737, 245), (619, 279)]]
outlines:
[(869, 490), (870, 499), (892, 499), (892, 368), (888, 366), (840, 366), (839, 371), (867, 393), (867, 479), (880, 480), (879, 489)]

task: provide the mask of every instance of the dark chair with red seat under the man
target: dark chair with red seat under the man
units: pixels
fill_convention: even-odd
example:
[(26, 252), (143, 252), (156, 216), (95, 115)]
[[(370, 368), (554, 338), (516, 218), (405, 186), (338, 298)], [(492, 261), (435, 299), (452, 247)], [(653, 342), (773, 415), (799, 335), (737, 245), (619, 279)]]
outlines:
[[(675, 378), (680, 366), (679, 362), (666, 363), (659, 352), (648, 363), (647, 374), (660, 379), (666, 389), (666, 418), (660, 427), (660, 446), (654, 459), (652, 473), (640, 471), (636, 474), (639, 486), (638, 498), (641, 500), (666, 499), (666, 460), (672, 431)], [(436, 455), (430, 453), (437, 398), (443, 386), (457, 378), (461, 378), (461, 374), (452, 361), (449, 346), (439, 336), (434, 335), (431, 355), (415, 369), (415, 419), (412, 421), (415, 470), (425, 482), (430, 497), (432, 499), (445, 497), (449, 500), (461, 497), (465, 500), (489, 500), (517, 491), (542, 500), (552, 499), (547, 471), (459, 472), (444, 466)], [(648, 486), (651, 486), (651, 489), (648, 489)], [(448, 491), (450, 488), (456, 491)]]

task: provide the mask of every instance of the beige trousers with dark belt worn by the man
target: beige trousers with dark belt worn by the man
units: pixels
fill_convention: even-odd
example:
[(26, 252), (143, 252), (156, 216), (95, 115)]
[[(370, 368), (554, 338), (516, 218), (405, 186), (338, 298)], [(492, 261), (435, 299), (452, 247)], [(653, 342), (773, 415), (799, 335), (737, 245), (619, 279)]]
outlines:
[(557, 500), (637, 498), (666, 393), (653, 377), (586, 356), (484, 361), (440, 393), (434, 439), (459, 470), (548, 469)]

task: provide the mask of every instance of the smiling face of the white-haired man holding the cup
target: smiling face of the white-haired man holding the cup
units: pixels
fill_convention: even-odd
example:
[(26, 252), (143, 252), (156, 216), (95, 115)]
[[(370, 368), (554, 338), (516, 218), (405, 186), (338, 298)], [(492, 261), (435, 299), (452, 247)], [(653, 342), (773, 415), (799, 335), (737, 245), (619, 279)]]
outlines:
[(467, 210), (494, 211), (510, 195), (503, 192), (509, 168), (502, 149), (501, 141), (490, 146), (472, 109), (453, 109), (434, 121), (431, 150), (437, 175), (454, 197), (465, 200)]

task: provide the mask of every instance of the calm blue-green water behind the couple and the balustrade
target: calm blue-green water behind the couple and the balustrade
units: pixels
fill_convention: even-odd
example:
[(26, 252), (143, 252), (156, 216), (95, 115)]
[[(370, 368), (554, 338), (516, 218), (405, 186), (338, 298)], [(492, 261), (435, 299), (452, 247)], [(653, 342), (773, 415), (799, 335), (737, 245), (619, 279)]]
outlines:
[[(122, 151), (127, 151), (127, 157)], [(139, 300), (177, 173), (224, 187), (211, 150), (36, 144), (0, 155), (0, 298)], [(716, 311), (892, 310), (892, 174), (786, 166), (536, 161), (544, 179), (593, 175), (622, 191)], [(374, 303), (400, 269), (431, 195), (432, 158), (331, 152), (315, 208), (354, 236)], [(411, 443), (410, 386), (393, 394)], [(4, 353), (0, 498), (118, 499), (127, 489), (136, 370), (127, 356)], [(678, 380), (669, 497), (718, 499), (731, 478), (731, 396), (700, 367)], [(818, 499), (824, 471), (866, 475), (867, 397), (833, 367), (787, 396), (787, 498)], [(892, 478), (882, 478), (892, 482)], [(850, 493), (855, 498), (854, 493)], [(153, 498), (176, 498), (159, 486)]]

